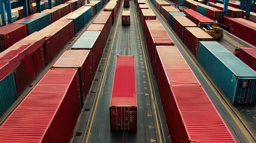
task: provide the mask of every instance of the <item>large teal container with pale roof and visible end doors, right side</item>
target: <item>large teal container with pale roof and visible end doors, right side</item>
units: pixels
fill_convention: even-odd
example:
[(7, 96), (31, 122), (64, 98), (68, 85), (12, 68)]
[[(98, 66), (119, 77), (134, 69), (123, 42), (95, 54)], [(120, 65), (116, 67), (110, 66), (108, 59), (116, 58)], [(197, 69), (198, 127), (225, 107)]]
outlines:
[(199, 63), (232, 104), (255, 104), (256, 72), (218, 42), (198, 45)]

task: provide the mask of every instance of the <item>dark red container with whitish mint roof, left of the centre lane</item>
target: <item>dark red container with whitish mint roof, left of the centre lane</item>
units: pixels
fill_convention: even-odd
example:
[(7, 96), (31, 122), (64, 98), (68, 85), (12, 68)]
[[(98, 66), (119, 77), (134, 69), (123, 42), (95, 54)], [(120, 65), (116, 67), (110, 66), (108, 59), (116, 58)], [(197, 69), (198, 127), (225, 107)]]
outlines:
[(72, 49), (90, 49), (92, 55), (92, 77), (94, 77), (103, 52), (100, 31), (86, 31)]

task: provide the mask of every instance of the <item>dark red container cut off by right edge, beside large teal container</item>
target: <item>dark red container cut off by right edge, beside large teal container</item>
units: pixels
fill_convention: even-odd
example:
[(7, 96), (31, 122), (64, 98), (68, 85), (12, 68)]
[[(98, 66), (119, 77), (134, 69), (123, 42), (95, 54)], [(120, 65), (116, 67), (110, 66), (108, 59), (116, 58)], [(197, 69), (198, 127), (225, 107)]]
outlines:
[(256, 49), (239, 48), (239, 59), (256, 71)]

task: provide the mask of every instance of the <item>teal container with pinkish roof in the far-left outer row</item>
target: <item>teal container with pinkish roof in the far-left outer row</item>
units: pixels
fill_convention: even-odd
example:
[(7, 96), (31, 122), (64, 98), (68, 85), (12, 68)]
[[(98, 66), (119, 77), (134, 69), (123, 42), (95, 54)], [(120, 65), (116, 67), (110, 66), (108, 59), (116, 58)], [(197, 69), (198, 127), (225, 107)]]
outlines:
[(20, 24), (27, 25), (27, 33), (30, 35), (36, 31), (43, 29), (51, 24), (51, 14), (50, 13), (40, 13), (35, 17), (29, 18), (27, 20), (21, 21)]

